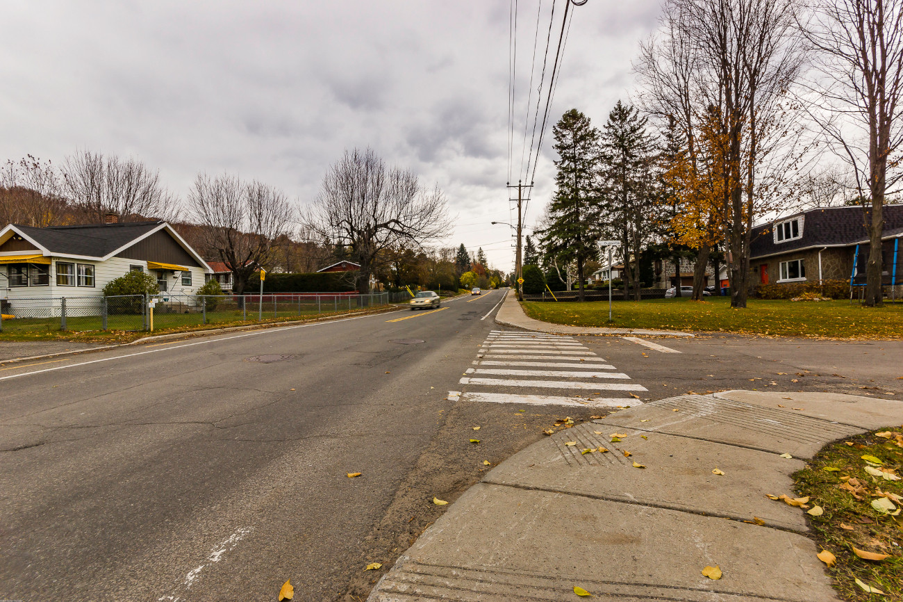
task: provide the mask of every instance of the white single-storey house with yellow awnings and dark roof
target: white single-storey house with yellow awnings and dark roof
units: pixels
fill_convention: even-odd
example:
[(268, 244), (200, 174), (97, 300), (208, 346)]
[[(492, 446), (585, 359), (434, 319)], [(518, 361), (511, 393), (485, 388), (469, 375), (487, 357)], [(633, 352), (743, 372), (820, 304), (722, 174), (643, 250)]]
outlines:
[(161, 291), (191, 295), (212, 270), (165, 221), (0, 230), (0, 299), (101, 296), (107, 282), (141, 270)]

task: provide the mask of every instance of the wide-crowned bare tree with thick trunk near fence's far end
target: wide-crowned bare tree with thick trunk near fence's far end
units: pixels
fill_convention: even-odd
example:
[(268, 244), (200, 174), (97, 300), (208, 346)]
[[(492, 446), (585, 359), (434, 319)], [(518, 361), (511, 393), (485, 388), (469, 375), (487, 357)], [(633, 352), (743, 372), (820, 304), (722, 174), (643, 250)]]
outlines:
[(303, 211), (302, 224), (331, 244), (349, 247), (360, 264), (358, 290), (388, 261), (394, 247), (423, 248), (448, 230), (446, 202), (438, 187), (424, 190), (415, 174), (388, 167), (370, 148), (355, 148), (323, 176), (320, 193)]

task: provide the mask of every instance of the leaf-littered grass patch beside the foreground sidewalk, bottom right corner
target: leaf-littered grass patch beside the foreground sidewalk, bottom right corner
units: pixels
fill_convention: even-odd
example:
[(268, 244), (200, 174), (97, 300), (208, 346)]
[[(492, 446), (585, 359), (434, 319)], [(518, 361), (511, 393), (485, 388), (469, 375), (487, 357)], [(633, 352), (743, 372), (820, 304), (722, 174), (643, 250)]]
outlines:
[[(806, 518), (819, 552), (828, 550), (836, 557), (834, 566), (826, 570), (845, 600), (903, 602), (903, 512), (895, 517), (872, 505), (885, 498), (899, 509), (903, 504), (894, 496), (903, 498), (903, 481), (867, 470), (898, 476), (903, 472), (901, 465), (903, 427), (880, 428), (824, 447), (805, 469), (793, 475), (796, 493), (810, 496), (810, 504), (824, 509), (820, 516)], [(854, 548), (889, 557), (864, 560)], [(884, 595), (867, 593), (857, 585), (857, 578)]]

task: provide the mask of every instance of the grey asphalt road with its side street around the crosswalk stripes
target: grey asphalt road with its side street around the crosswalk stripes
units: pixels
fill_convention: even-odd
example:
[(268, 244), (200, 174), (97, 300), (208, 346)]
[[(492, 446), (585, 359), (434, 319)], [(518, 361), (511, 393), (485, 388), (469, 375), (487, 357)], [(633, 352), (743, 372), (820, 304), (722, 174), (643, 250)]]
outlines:
[[(489, 339), (506, 347), (493, 331), (512, 330), (480, 319), (500, 298), (0, 368), (0, 598), (264, 600), (291, 578), (295, 600), (363, 600), (443, 512), (434, 496), (453, 502), (555, 419), (603, 415), (593, 395), (614, 405), (768, 385), (903, 396), (903, 343), (728, 335), (656, 339), (680, 353), (574, 337), (584, 362), (610, 362), (638, 388), (525, 385), (560, 370), (526, 355), (558, 348), (510, 343), (546, 365), (489, 363)], [(261, 354), (291, 357), (249, 361)], [(471, 381), (509, 369), (536, 373)], [(489, 392), (513, 403), (475, 400)], [(596, 405), (517, 403), (575, 393)], [(384, 567), (363, 570), (370, 562)]]

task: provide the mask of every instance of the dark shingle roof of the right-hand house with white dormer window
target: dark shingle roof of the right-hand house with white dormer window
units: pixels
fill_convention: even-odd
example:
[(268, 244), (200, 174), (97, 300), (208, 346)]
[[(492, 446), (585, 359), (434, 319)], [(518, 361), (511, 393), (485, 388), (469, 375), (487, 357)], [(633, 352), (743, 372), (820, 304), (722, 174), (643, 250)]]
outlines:
[[(778, 221), (802, 215), (803, 236), (787, 242), (774, 241), (772, 227)], [(889, 236), (903, 228), (903, 205), (884, 206), (884, 235)], [(752, 229), (750, 257), (757, 258), (796, 249), (824, 245), (854, 245), (869, 237), (863, 225), (861, 207), (824, 207), (780, 218)]]

